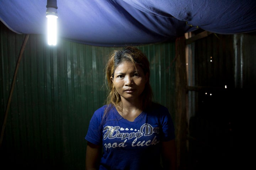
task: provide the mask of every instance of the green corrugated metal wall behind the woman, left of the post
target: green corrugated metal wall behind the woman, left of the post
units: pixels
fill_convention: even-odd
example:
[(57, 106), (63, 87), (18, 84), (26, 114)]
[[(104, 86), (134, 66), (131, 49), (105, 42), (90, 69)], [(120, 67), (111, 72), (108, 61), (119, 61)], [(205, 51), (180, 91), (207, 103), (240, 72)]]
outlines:
[[(4, 122), (17, 58), (25, 35), (0, 25), (0, 122)], [(49, 47), (30, 35), (18, 68), (1, 147), (8, 167), (80, 170), (85, 167), (89, 121), (105, 101), (104, 72), (114, 47), (59, 40)], [(175, 42), (141, 45), (151, 63), (155, 100), (174, 118)]]

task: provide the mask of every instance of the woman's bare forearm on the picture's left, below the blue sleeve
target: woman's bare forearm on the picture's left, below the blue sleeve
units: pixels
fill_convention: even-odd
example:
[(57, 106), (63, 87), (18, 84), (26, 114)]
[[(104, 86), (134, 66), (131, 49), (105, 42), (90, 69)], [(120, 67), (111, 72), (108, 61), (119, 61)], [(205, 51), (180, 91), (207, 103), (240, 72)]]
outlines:
[(85, 170), (97, 170), (100, 165), (101, 147), (87, 142)]

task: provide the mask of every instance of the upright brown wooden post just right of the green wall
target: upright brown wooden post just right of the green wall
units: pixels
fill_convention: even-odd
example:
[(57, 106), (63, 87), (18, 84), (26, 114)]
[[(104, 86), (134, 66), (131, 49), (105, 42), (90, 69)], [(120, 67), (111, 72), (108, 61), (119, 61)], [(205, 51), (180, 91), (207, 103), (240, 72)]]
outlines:
[(175, 128), (177, 145), (177, 169), (187, 169), (187, 75), (186, 75), (186, 39), (176, 39), (176, 62), (175, 62)]

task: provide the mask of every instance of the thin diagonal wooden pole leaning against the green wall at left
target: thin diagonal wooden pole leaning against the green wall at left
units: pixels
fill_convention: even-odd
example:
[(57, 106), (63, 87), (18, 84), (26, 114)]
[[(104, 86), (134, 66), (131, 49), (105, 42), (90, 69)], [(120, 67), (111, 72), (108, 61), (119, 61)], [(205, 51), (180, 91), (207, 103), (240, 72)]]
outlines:
[(25, 46), (27, 44), (28, 37), (29, 37), (29, 34), (26, 34), (25, 39), (23, 40), (23, 44), (21, 46), (20, 55), (18, 56), (18, 61), (17, 61), (17, 64), (16, 64), (16, 68), (15, 68), (15, 72), (14, 72), (14, 77), (12, 79), (11, 91), (10, 91), (10, 95), (9, 95), (9, 98), (8, 98), (8, 103), (7, 103), (7, 106), (6, 106), (4, 123), (2, 125), (2, 132), (1, 132), (1, 138), (0, 138), (0, 148), (2, 146), (2, 140), (3, 140), (3, 137), (4, 137), (5, 124), (6, 124), (6, 121), (7, 121), (8, 111), (9, 111), (10, 104), (11, 104), (11, 98), (12, 98), (12, 93), (13, 93), (13, 90), (14, 90), (14, 85), (15, 85), (15, 82), (16, 82), (16, 77), (17, 77), (17, 73), (18, 73), (18, 67), (20, 65), (20, 61), (21, 61), (22, 54), (23, 54), (23, 51), (25, 49)]

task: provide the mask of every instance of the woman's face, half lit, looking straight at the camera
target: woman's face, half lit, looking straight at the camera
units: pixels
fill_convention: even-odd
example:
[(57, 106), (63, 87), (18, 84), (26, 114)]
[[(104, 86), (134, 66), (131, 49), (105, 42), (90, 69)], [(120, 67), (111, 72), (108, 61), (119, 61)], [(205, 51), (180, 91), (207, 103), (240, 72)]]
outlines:
[(148, 74), (145, 75), (138, 64), (135, 66), (132, 62), (124, 61), (116, 68), (114, 77), (111, 77), (122, 101), (138, 99), (148, 81)]

